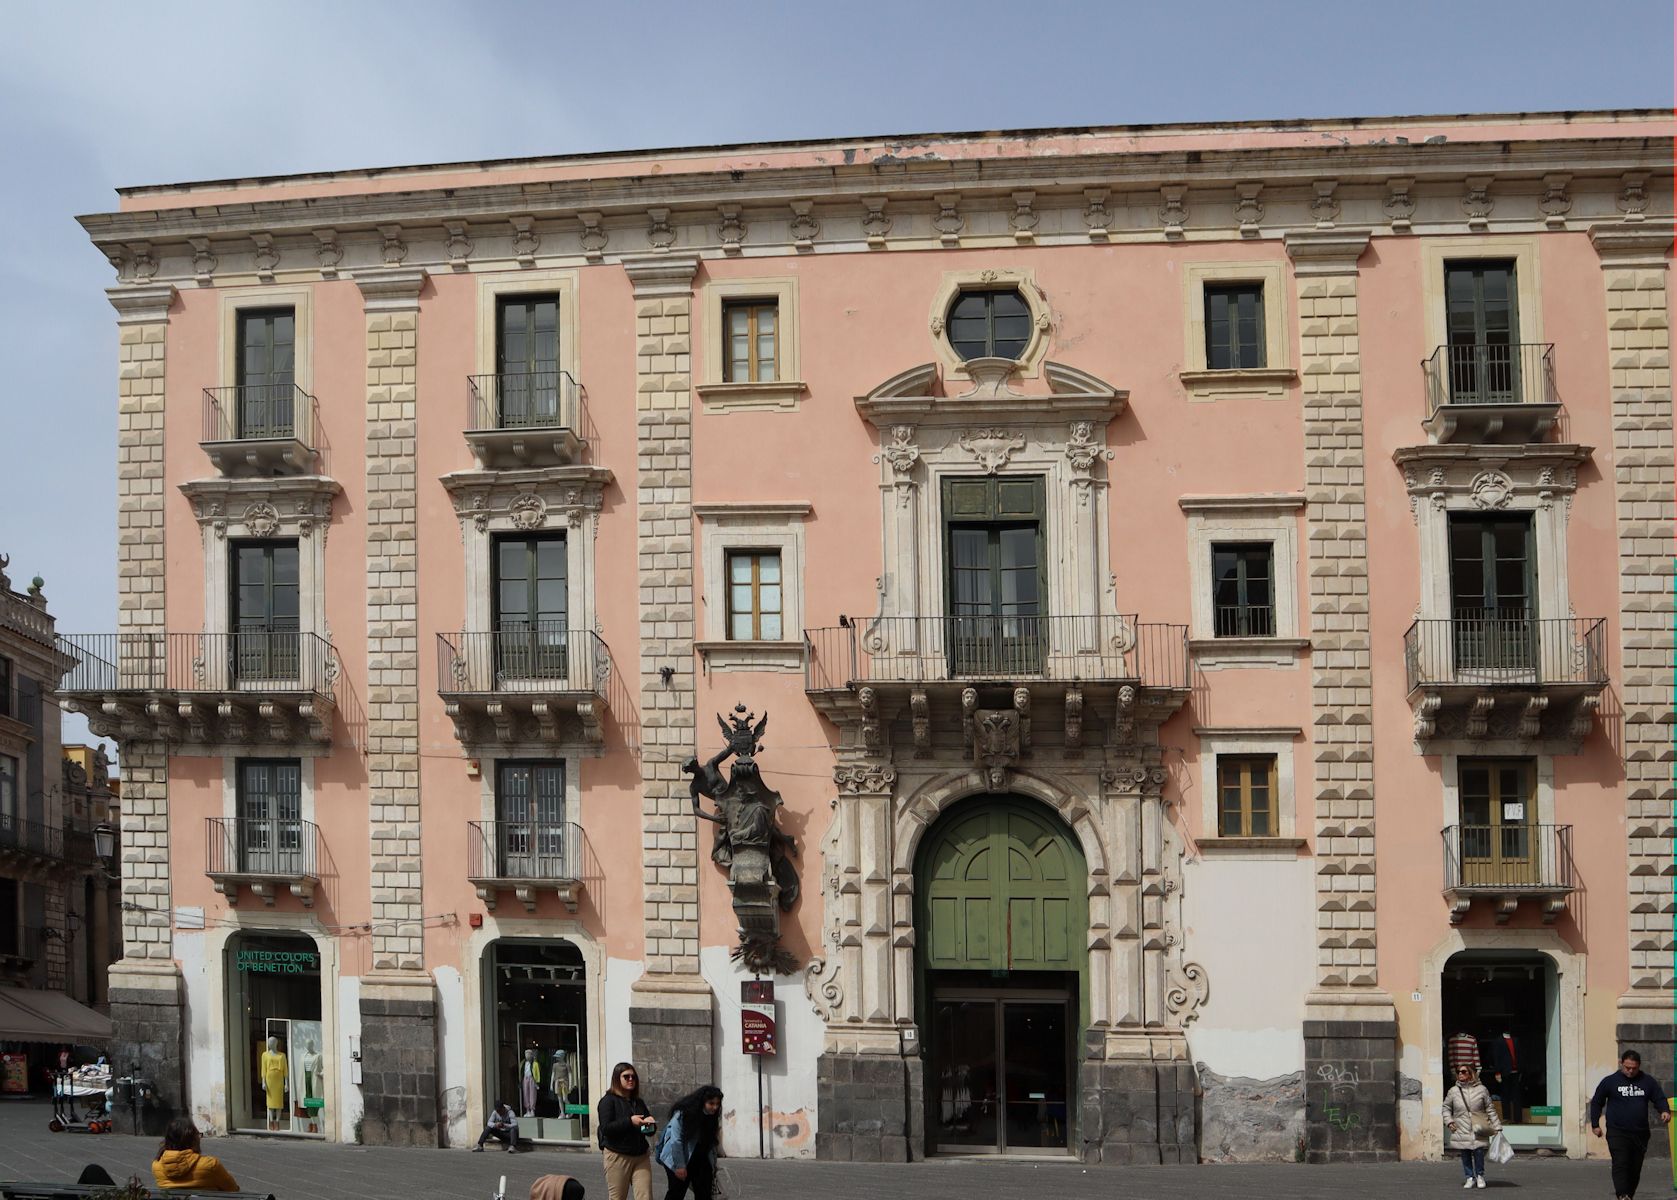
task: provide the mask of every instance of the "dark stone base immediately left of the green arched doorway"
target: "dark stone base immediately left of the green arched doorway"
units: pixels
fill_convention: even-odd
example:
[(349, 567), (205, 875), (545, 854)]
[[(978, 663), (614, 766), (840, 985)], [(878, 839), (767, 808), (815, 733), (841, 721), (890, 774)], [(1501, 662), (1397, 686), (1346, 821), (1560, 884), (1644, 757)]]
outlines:
[(822, 1054), (815, 1061), (815, 1156), (907, 1163), (926, 1156), (924, 1069), (901, 1054)]

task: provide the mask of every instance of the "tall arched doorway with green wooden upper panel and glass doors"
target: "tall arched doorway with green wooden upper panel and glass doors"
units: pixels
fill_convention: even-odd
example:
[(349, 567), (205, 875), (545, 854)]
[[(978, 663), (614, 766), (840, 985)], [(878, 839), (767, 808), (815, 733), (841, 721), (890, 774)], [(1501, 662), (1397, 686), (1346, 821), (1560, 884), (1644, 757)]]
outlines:
[(927, 1150), (1068, 1151), (1088, 965), (1077, 836), (1036, 801), (973, 798), (927, 830), (916, 882)]

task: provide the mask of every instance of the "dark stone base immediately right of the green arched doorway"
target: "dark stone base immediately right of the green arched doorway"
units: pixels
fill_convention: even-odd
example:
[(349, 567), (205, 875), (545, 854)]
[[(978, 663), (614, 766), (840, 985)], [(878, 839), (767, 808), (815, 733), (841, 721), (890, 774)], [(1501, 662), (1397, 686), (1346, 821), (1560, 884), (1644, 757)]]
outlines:
[(1194, 1066), (1083, 1059), (1077, 1140), (1085, 1163), (1199, 1161)]

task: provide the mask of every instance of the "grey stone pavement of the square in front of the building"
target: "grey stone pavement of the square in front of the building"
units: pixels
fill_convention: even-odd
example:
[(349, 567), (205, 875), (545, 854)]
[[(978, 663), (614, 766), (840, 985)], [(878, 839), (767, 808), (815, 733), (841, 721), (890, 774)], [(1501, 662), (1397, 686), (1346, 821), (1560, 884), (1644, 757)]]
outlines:
[[(151, 1138), (49, 1133), (49, 1108), (37, 1103), (0, 1103), (0, 1180), (74, 1180), (89, 1161), (101, 1163), (117, 1180), (129, 1173), (151, 1178), (156, 1153)], [(490, 1150), (374, 1150), (280, 1138), (211, 1138), (206, 1153), (218, 1155), (250, 1192), (272, 1192), (278, 1200), (490, 1200), (496, 1180), (506, 1175), (508, 1200), (530, 1195), (538, 1175), (575, 1175), (594, 1200), (605, 1200), (599, 1155), (537, 1150), (505, 1155)], [(733, 1200), (968, 1200), (1003, 1197), (1031, 1200), (1221, 1200), (1234, 1197), (1288, 1197), (1298, 1200), (1410, 1200), (1419, 1195), (1461, 1192), (1454, 1161), (1395, 1163), (1390, 1166), (1129, 1166), (1085, 1168), (1077, 1163), (939, 1160), (931, 1163), (867, 1165), (813, 1161), (756, 1161), (731, 1158), (726, 1170)], [(1491, 1187), (1521, 1200), (1586, 1200), (1612, 1197), (1607, 1161), (1558, 1158), (1516, 1160), (1493, 1168)], [(1670, 1165), (1648, 1163), (1642, 1200), (1670, 1195)], [(654, 1195), (662, 1197), (662, 1173)]]

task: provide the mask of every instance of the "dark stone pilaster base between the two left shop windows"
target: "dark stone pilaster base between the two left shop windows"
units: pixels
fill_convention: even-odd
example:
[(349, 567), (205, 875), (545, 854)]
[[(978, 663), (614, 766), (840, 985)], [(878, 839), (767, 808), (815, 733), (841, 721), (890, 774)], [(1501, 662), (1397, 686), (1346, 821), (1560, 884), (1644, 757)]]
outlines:
[(361, 997), (364, 1145), (441, 1145), (436, 1074), (441, 1058), (434, 999)]

